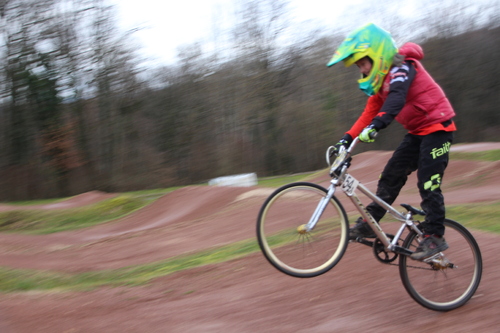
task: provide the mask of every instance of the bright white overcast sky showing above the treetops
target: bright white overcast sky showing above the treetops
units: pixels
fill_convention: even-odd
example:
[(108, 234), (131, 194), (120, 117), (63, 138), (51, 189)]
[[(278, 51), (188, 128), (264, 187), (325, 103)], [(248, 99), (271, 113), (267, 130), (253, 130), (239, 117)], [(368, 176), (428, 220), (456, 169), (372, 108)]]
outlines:
[[(116, 6), (118, 24), (124, 31), (142, 28), (134, 33), (140, 47), (139, 54), (151, 64), (173, 64), (177, 61), (180, 46), (214, 40), (215, 31), (228, 32), (234, 26), (235, 3), (242, 0), (110, 0)], [(444, 4), (455, 8), (467, 0), (397, 0), (392, 1), (399, 18), (413, 20), (423, 12), (421, 6), (437, 11)], [(472, 3), (497, 2), (498, 0), (471, 0)], [(334, 29), (341, 26), (343, 33), (368, 22), (384, 27), (384, 16), (389, 1), (381, 15), (377, 0), (289, 0), (289, 15), (296, 29)], [(497, 3), (498, 5), (498, 3)], [(419, 8), (420, 6), (420, 8)], [(392, 7), (389, 7), (392, 10)], [(363, 17), (353, 13), (364, 9)], [(378, 10), (378, 11), (377, 11)], [(446, 13), (441, 13), (446, 14)], [(307, 28), (306, 28), (307, 27)], [(384, 27), (386, 28), (386, 27)], [(389, 28), (386, 28), (389, 30)]]

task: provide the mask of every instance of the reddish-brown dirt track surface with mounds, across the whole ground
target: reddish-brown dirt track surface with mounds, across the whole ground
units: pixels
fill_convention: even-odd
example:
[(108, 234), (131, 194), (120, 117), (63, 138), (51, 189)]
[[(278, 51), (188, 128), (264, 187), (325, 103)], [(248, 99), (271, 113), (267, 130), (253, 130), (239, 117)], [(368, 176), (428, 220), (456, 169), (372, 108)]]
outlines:
[[(500, 149), (500, 144), (453, 149)], [(374, 190), (390, 155), (356, 155), (350, 173)], [(309, 180), (327, 186), (329, 178), (325, 172)], [(448, 205), (499, 202), (500, 161), (452, 160), (443, 183)], [(0, 266), (101, 271), (252, 239), (260, 206), (272, 191), (189, 186), (124, 218), (86, 229), (36, 236), (0, 233)], [(90, 192), (31, 208), (77, 207), (113, 195)], [(419, 202), (412, 175), (395, 205)], [(14, 208), (0, 205), (0, 211), (9, 209)], [(471, 231), (482, 251), (483, 277), (475, 296), (450, 312), (418, 305), (404, 290), (397, 266), (384, 265), (371, 249), (350, 243), (337, 266), (311, 279), (286, 276), (257, 252), (141, 286), (3, 293), (0, 332), (498, 332), (500, 235)]]

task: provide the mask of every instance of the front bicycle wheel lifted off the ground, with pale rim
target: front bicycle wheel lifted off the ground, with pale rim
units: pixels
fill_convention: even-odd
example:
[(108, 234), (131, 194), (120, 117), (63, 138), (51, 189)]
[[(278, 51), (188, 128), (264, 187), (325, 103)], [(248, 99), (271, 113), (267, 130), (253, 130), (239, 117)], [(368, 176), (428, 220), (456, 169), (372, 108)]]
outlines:
[(262, 205), (257, 239), (266, 259), (279, 271), (314, 277), (328, 272), (344, 255), (349, 222), (336, 197), (329, 201), (313, 230), (299, 230), (326, 194), (325, 188), (314, 183), (291, 183), (274, 191)]

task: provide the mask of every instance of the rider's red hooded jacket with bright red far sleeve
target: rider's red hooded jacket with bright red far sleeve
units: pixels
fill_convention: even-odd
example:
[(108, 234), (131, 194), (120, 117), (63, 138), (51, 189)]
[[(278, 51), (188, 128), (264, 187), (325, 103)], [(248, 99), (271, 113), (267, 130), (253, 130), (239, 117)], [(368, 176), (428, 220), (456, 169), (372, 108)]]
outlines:
[[(420, 63), (419, 60), (424, 56), (422, 48), (414, 43), (406, 43), (399, 49), (399, 53), (405, 56), (405, 61), (409, 60), (414, 64), (417, 74), (406, 95), (406, 103), (395, 119), (413, 134), (422, 134), (422, 131), (428, 134), (440, 130), (440, 127), (433, 125), (453, 118), (455, 112), (441, 87)], [(387, 75), (380, 91), (368, 99), (360, 118), (347, 132), (351, 137), (359, 135), (377, 116), (389, 93), (390, 78), (391, 76)], [(433, 130), (425, 131), (426, 128)]]

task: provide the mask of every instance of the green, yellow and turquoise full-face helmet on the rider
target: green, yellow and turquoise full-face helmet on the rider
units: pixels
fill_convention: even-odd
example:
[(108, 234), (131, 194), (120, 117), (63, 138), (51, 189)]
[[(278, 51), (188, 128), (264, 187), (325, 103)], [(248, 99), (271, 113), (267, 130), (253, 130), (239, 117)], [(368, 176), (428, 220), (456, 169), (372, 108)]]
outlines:
[(391, 34), (377, 25), (369, 23), (346, 37), (327, 66), (344, 61), (345, 66), (349, 67), (359, 59), (369, 57), (373, 64), (372, 70), (368, 76), (362, 76), (358, 83), (362, 91), (368, 96), (372, 96), (382, 87), (397, 51), (396, 43)]

